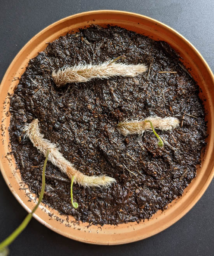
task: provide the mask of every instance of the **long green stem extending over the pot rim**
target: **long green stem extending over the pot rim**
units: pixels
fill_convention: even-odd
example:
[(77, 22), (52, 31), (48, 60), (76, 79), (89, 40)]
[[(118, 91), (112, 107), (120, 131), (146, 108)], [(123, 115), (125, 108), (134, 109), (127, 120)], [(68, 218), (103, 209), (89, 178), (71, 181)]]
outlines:
[(46, 164), (47, 164), (47, 158), (48, 158), (49, 152), (50, 151), (47, 150), (46, 160), (45, 160), (44, 166), (43, 166), (43, 171), (42, 171), (42, 189), (41, 189), (41, 192), (40, 192), (39, 200), (38, 200), (36, 206), (33, 208), (32, 212), (28, 213), (28, 215), (25, 217), (23, 222), (18, 226), (18, 228), (15, 229), (10, 236), (8, 236), (3, 242), (0, 243), (0, 251), (2, 251), (5, 247), (10, 245), (16, 239), (16, 237), (26, 228), (26, 226), (30, 222), (31, 218), (33, 217), (33, 213), (35, 212), (35, 210), (37, 210), (39, 204), (42, 201), (42, 198), (43, 198), (43, 195), (44, 195), (44, 191), (45, 191), (45, 170), (46, 170)]

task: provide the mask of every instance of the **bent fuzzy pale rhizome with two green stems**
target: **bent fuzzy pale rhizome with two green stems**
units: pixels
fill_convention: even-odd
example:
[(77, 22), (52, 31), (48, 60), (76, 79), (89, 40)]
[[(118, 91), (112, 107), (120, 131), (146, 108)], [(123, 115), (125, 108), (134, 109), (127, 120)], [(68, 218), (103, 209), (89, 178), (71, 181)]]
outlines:
[(70, 180), (72, 180), (72, 176), (74, 176), (74, 183), (78, 183), (83, 187), (109, 187), (112, 183), (116, 182), (114, 178), (106, 175), (87, 176), (75, 169), (73, 164), (66, 160), (59, 152), (56, 144), (43, 138), (44, 135), (39, 132), (38, 119), (34, 119), (30, 124), (27, 124), (24, 131), (33, 143), (33, 146), (42, 152), (43, 155), (46, 155), (47, 149), (50, 150), (48, 160), (58, 167), (61, 172), (67, 174)]

